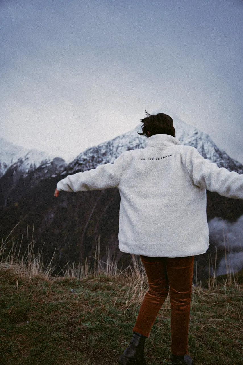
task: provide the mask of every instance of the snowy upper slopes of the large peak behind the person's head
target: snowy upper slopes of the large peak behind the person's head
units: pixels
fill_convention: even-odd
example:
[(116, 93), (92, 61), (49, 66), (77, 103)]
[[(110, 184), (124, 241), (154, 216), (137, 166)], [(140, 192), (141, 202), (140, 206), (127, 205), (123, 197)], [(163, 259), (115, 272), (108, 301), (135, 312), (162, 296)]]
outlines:
[[(208, 134), (190, 126), (174, 115), (173, 123), (176, 131), (175, 138), (179, 139), (182, 145), (195, 147), (204, 158), (215, 162), (219, 167), (243, 173), (243, 165), (231, 158), (224, 150), (219, 149)], [(144, 148), (144, 142), (147, 137), (138, 134), (138, 132), (142, 132), (141, 127), (142, 123), (127, 133), (100, 143), (97, 146), (89, 147), (70, 162), (61, 175), (90, 170), (109, 162), (113, 163), (124, 151)], [(54, 176), (56, 174), (53, 174)]]

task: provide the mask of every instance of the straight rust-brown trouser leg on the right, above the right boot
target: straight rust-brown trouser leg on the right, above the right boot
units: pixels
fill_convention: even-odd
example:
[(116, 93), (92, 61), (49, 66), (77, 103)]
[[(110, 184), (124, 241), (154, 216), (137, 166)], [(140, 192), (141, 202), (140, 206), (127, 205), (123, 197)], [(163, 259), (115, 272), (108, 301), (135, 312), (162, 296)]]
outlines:
[(186, 355), (190, 319), (194, 256), (167, 257), (166, 270), (170, 285), (171, 353)]

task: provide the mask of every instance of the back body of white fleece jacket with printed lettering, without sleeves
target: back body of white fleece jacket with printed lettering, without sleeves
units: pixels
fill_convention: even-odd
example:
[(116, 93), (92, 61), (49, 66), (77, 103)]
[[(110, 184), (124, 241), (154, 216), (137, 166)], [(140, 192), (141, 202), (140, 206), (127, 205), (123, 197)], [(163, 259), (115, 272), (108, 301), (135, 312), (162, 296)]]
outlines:
[(206, 252), (206, 190), (188, 173), (186, 156), (191, 148), (170, 135), (155, 134), (144, 149), (124, 153), (117, 186), (122, 251), (163, 257)]

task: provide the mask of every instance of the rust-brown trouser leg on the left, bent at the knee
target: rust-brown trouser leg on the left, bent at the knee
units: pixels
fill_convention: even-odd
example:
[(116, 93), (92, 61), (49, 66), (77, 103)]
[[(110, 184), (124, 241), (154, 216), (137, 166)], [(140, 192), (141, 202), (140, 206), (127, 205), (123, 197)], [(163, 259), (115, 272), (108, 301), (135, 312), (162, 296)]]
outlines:
[(145, 293), (136, 323), (132, 331), (149, 336), (158, 312), (169, 291), (166, 257), (140, 256), (148, 278), (149, 289)]

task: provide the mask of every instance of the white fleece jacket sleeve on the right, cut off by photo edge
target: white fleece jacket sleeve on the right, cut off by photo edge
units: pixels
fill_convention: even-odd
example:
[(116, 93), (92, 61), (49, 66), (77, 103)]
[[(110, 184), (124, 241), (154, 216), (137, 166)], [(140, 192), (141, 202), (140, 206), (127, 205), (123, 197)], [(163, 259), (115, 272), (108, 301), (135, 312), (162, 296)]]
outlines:
[(232, 199), (243, 199), (243, 174), (218, 167), (203, 158), (197, 149), (190, 147), (186, 155), (186, 166), (195, 185), (217, 192)]

